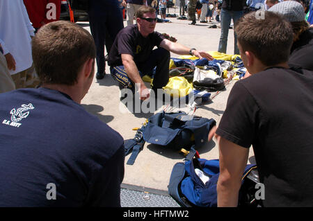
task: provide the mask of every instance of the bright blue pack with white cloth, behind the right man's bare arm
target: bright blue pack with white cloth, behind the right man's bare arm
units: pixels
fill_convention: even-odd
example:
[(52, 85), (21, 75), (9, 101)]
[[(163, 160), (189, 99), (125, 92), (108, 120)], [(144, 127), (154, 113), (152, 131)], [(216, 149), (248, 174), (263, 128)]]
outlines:
[[(195, 153), (191, 148), (184, 163), (176, 163), (172, 168), (168, 193), (183, 207), (216, 207), (219, 161), (199, 159)], [(259, 183), (255, 164), (246, 166), (242, 180), (238, 205), (262, 206), (262, 200), (255, 199), (255, 184)]]

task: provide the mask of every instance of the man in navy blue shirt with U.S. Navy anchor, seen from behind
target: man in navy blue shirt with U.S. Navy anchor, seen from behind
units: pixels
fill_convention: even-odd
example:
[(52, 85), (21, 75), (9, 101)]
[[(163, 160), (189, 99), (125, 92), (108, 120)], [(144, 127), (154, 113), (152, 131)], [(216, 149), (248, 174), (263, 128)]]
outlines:
[(32, 41), (42, 86), (0, 94), (0, 206), (120, 206), (123, 139), (80, 105), (93, 37), (56, 21)]

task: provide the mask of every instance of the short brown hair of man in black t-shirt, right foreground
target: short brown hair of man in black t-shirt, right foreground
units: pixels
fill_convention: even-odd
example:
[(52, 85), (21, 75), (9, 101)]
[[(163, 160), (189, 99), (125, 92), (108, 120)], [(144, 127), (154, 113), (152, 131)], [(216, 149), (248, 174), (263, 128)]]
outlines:
[(251, 51), (266, 66), (287, 62), (293, 39), (291, 24), (275, 12), (258, 17), (250, 12), (235, 25), (243, 51)]

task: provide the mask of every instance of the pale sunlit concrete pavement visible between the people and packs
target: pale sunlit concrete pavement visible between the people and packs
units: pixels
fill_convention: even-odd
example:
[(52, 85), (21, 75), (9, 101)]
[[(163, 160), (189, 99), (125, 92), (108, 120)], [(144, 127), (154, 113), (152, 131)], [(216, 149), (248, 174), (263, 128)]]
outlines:
[[(179, 10), (170, 8), (171, 14), (179, 14)], [(158, 23), (156, 30), (160, 33), (168, 33), (176, 37), (177, 42), (191, 48), (197, 48), (201, 51), (217, 51), (220, 37), (220, 28), (208, 28), (211, 24), (204, 24), (197, 21), (196, 26), (188, 25), (191, 21), (179, 20), (177, 18), (167, 18), (171, 23)], [(81, 24), (87, 30), (90, 30), (88, 23)], [(212, 24), (218, 24), (216, 22)], [(125, 21), (126, 26), (126, 21)], [(234, 31), (230, 29), (227, 44), (227, 53), (234, 52)], [(171, 53), (172, 58), (179, 55)], [(97, 67), (95, 67), (97, 71)], [(106, 73), (109, 67), (106, 66)], [(227, 97), (230, 89), (234, 85), (234, 80), (226, 86), (225, 91), (221, 91), (211, 103), (202, 105), (195, 111), (195, 115), (206, 118), (214, 118), (218, 123), (225, 110)], [(214, 92), (212, 93), (212, 95)], [(124, 139), (134, 138), (134, 127), (141, 127), (146, 118), (152, 114), (133, 114), (120, 103), (120, 90), (118, 84), (110, 75), (102, 80), (94, 78), (93, 84), (88, 94), (82, 100), (83, 107), (91, 114), (99, 117), (101, 121), (107, 123), (114, 130), (119, 132)], [(164, 107), (160, 107), (159, 110)], [(177, 110), (177, 109), (175, 109)], [(158, 111), (157, 111), (158, 112)], [(104, 134), (105, 136), (105, 134)], [(206, 146), (198, 150), (201, 158), (218, 159), (218, 146), (216, 141), (211, 141)], [(182, 161), (184, 157), (179, 152), (166, 150), (150, 143), (145, 143), (143, 151), (138, 154), (136, 162), (133, 166), (126, 164), (125, 159), (125, 178), (123, 184), (130, 186), (143, 186), (145, 188), (153, 188), (160, 191), (168, 190), (168, 182), (170, 173), (175, 163)], [(252, 148), (250, 148), (250, 163), (254, 162)], [(125, 188), (127, 189), (127, 188)]]

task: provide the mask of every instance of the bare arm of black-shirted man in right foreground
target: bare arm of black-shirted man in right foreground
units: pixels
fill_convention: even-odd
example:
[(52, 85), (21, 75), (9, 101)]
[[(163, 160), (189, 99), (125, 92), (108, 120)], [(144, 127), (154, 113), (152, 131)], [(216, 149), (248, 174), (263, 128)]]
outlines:
[(218, 206), (237, 206), (243, 171), (249, 149), (218, 136), (220, 176), (218, 177)]

